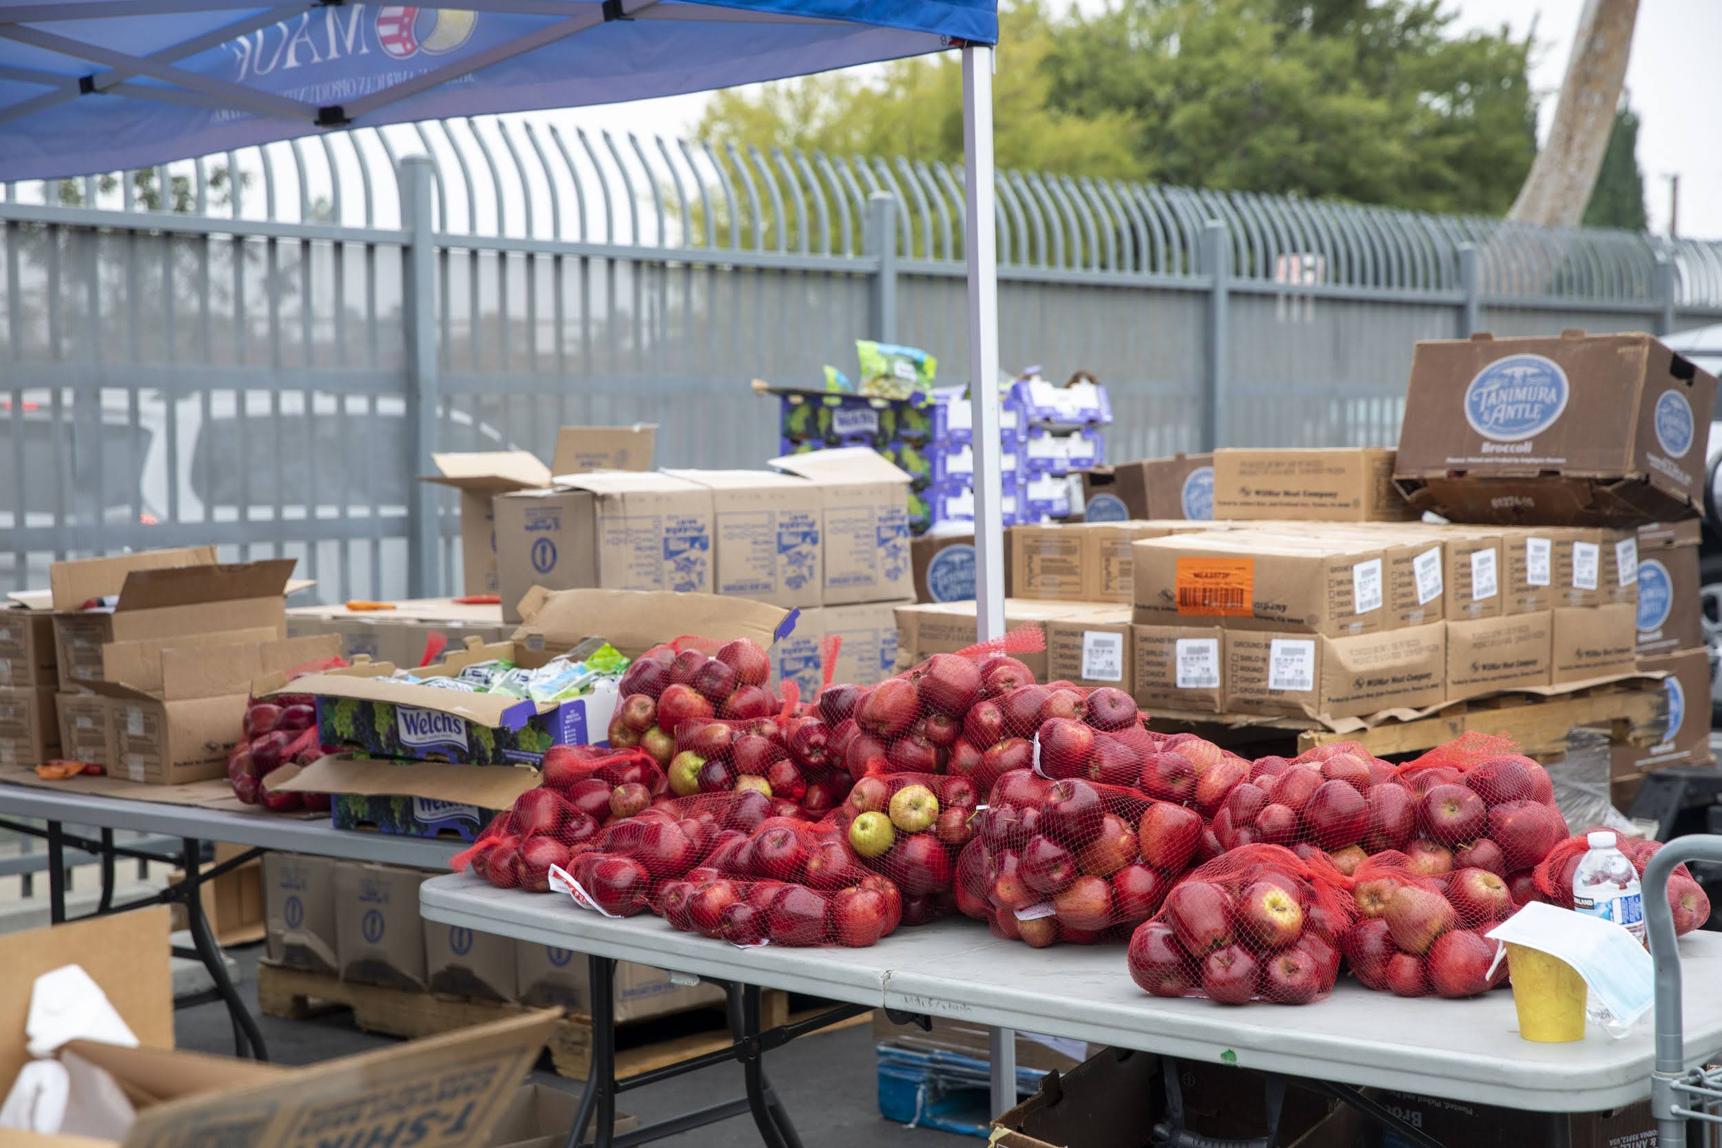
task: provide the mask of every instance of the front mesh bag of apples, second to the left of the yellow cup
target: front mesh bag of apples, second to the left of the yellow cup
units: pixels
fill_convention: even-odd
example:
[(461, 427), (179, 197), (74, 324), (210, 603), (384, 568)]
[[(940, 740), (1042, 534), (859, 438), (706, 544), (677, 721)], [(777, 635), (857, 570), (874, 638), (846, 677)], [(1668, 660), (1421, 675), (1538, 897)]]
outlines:
[(1131, 979), (1155, 997), (1305, 1005), (1333, 991), (1352, 923), (1326, 857), (1243, 845), (1197, 867), (1130, 936)]

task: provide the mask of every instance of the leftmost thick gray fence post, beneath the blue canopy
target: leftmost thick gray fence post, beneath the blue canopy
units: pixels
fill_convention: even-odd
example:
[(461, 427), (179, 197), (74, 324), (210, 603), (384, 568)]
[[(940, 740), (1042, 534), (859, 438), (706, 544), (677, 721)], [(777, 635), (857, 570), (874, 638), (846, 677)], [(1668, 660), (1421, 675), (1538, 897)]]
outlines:
[[(406, 336), (406, 458), (424, 473), (437, 447), (437, 355), (436, 355), (436, 217), (430, 213), (434, 172), (430, 158), (401, 160), (401, 231), (405, 232), (401, 325)], [(429, 482), (413, 487), (406, 503), (406, 592), (436, 597), (443, 582), (437, 523), (437, 489)]]

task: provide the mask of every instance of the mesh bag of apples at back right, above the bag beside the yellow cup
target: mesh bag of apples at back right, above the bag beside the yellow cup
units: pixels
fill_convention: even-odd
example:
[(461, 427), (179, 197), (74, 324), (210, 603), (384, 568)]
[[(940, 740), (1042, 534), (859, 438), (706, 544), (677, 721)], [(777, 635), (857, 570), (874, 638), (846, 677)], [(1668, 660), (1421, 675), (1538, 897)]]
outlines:
[(1486, 869), (1519, 904), (1533, 898), (1533, 869), (1569, 833), (1548, 771), (1515, 749), (1467, 733), (1398, 768), (1415, 799), (1415, 836), (1400, 847), (1415, 873)]

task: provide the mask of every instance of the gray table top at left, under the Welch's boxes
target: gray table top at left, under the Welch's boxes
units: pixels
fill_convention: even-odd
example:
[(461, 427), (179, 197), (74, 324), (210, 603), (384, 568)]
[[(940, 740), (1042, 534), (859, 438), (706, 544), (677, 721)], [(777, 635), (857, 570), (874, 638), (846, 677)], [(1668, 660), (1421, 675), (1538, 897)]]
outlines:
[(231, 842), (341, 861), (379, 861), (424, 869), (446, 869), (448, 859), (465, 849), (460, 842), (441, 838), (336, 830), (327, 819), (277, 818), (267, 812), (241, 814), (5, 783), (0, 783), (0, 816), (41, 818), (43, 821), (102, 830), (195, 836), (205, 842)]

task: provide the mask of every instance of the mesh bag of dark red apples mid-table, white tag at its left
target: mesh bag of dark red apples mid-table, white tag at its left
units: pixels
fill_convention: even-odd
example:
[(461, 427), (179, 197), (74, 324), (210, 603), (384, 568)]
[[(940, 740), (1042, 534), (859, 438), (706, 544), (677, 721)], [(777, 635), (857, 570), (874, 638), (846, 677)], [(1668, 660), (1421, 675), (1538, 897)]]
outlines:
[(1123, 940), (1161, 907), (1202, 819), (1133, 788), (1030, 769), (999, 778), (956, 866), (956, 904), (1007, 940)]

